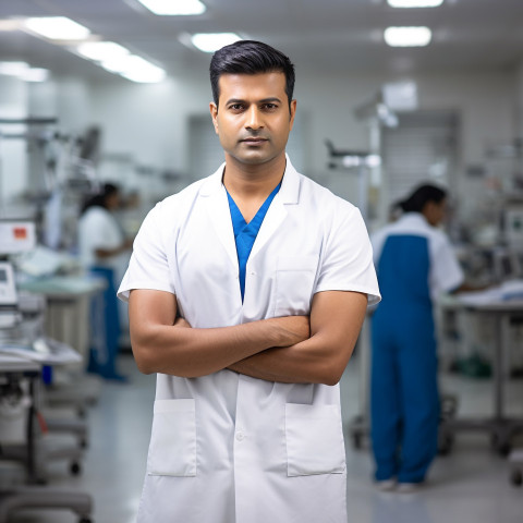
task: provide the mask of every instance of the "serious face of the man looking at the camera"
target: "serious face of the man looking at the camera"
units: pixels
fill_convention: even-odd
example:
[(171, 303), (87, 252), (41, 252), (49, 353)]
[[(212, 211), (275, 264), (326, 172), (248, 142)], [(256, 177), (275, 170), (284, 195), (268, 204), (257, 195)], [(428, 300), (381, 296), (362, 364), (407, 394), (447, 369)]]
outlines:
[(296, 110), (296, 100), (289, 107), (285, 75), (224, 74), (219, 87), (219, 107), (210, 104), (210, 113), (226, 158), (259, 165), (284, 155)]

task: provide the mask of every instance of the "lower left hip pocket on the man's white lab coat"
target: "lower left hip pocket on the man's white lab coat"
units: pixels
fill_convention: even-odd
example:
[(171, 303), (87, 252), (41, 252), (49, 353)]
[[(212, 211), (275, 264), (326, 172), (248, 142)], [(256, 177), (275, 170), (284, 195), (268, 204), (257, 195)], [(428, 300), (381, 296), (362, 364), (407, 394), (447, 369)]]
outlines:
[(194, 399), (156, 400), (147, 457), (153, 476), (196, 475), (196, 410)]

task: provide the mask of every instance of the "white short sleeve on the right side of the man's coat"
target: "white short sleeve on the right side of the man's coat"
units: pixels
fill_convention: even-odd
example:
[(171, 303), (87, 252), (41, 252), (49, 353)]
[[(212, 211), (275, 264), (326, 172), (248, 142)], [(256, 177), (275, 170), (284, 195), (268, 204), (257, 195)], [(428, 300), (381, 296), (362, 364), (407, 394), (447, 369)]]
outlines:
[(354, 291), (368, 296), (368, 305), (380, 301), (373, 248), (362, 215), (356, 207), (336, 212), (326, 238), (315, 292)]

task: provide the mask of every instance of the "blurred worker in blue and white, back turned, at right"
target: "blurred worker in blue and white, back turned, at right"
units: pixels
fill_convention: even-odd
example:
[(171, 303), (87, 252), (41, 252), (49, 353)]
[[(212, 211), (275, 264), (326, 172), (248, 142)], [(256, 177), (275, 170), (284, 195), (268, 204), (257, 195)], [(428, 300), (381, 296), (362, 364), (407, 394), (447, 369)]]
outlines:
[(382, 302), (372, 321), (370, 422), (375, 479), (412, 491), (436, 455), (439, 423), (433, 303), (463, 283), (449, 239), (437, 227), (447, 192), (417, 187), (373, 238)]

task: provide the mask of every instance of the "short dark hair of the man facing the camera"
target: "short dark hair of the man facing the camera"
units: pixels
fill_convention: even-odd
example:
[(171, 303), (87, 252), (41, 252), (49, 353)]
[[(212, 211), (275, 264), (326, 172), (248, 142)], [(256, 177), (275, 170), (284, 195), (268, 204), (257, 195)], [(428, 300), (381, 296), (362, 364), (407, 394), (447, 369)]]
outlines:
[(281, 51), (255, 40), (240, 40), (224, 46), (210, 60), (210, 87), (218, 107), (219, 80), (222, 74), (258, 74), (281, 72), (285, 75), (285, 93), (289, 105), (294, 92), (294, 65)]

